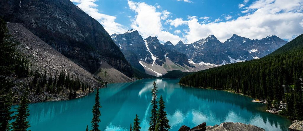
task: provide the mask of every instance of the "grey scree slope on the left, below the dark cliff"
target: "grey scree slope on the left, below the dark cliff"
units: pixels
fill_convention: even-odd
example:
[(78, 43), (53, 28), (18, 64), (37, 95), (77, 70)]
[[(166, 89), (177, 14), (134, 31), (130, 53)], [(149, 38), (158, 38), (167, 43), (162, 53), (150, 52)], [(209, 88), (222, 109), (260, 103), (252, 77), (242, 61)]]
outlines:
[[(32, 34), (28, 29), (23, 27), (22, 24), (12, 23), (7, 24), (7, 27), (9, 34), (12, 35), (12, 41), (19, 43), (16, 48), (18, 53), (29, 60), (32, 69), (38, 68), (42, 72), (43, 70), (47, 70), (47, 79), (49, 79), (50, 76), (55, 78), (56, 72), (59, 74), (62, 70), (65, 70), (66, 75), (70, 74), (71, 77), (73, 76), (74, 78), (79, 77), (81, 81), (83, 80), (85, 83), (91, 84), (93, 89), (104, 86), (100, 84), (101, 79), (99, 77), (89, 73), (87, 70), (60, 54), (47, 43)], [(15, 84), (12, 91), (17, 97), (20, 96), (19, 93), (22, 92), (22, 89), (24, 89), (28, 83), (32, 82), (32, 77), (17, 78), (12, 75), (10, 78)], [(30, 102), (45, 101), (46, 96), (48, 97), (48, 100), (68, 100), (70, 93), (69, 89), (66, 88), (63, 88), (62, 93), (58, 94), (49, 93), (45, 90), (42, 92), (43, 93), (41, 94), (36, 94), (35, 90), (30, 90)], [(77, 97), (81, 97), (88, 93), (88, 90), (78, 90)]]

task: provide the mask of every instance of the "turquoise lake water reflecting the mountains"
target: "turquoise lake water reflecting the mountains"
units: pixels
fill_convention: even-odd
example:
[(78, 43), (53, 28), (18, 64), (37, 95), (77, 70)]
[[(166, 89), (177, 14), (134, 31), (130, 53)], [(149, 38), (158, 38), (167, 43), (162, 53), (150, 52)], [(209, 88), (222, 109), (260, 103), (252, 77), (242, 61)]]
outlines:
[[(102, 116), (100, 129), (129, 130), (138, 114), (142, 131), (148, 129), (152, 82), (163, 95), (171, 131), (182, 125), (194, 127), (222, 122), (241, 122), (267, 131), (288, 130), (291, 122), (285, 117), (267, 113), (266, 105), (250, 102), (251, 98), (221, 90), (180, 86), (179, 79), (145, 79), (132, 83), (108, 84), (100, 89)], [(29, 106), (32, 131), (84, 131), (90, 127), (95, 93), (66, 101), (32, 103)]]

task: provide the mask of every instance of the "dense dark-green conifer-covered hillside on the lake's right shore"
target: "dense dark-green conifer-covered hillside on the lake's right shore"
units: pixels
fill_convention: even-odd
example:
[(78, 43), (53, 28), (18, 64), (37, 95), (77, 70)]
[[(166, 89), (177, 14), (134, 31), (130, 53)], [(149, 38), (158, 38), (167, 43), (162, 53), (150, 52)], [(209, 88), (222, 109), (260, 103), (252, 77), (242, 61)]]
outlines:
[(227, 64), (187, 75), (180, 84), (234, 90), (255, 98), (287, 103), (284, 114), (302, 120), (303, 34), (256, 60)]

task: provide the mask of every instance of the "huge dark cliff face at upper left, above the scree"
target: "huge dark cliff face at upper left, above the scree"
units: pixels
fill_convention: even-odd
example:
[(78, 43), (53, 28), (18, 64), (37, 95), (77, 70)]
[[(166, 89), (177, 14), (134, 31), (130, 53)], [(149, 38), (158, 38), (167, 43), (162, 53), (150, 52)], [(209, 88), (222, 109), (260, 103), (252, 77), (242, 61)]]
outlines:
[(127, 76), (132, 68), (110, 35), (94, 18), (69, 0), (2, 0), (0, 13), (90, 72), (102, 61)]

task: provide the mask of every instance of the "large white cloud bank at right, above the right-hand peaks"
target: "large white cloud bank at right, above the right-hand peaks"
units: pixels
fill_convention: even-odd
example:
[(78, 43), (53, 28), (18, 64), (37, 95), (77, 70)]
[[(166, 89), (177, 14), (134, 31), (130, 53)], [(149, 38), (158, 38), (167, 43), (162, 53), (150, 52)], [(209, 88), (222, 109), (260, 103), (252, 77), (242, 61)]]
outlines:
[(277, 35), (291, 40), (303, 32), (303, 2), (301, 0), (258, 0), (247, 7), (250, 14), (237, 19), (200, 24), (197, 19), (188, 21), (185, 32), (189, 43), (214, 34), (221, 42), (232, 34), (251, 39), (261, 39), (268, 35)]

